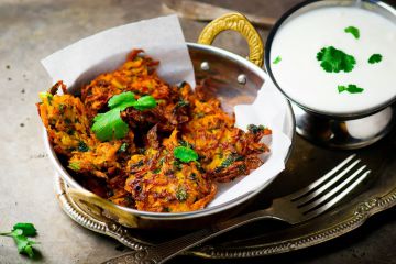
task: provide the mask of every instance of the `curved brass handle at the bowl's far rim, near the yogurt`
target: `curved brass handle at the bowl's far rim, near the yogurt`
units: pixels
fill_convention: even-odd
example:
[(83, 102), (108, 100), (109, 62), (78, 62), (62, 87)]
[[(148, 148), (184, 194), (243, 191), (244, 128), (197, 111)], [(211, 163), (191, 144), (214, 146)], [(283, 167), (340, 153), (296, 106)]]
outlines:
[(262, 67), (264, 58), (263, 41), (246, 16), (241, 13), (228, 13), (210, 22), (200, 33), (198, 43), (210, 45), (219, 33), (228, 30), (237, 31), (244, 36), (249, 45), (249, 61)]

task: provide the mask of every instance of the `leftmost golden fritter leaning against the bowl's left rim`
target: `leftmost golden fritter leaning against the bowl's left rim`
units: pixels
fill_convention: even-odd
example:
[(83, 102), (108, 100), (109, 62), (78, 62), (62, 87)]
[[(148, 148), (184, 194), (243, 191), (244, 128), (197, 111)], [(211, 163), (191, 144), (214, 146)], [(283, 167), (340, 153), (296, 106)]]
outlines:
[[(56, 92), (63, 86), (57, 82), (51, 88)], [(57, 154), (68, 157), (68, 167), (79, 174), (91, 174), (108, 178), (108, 175), (120, 169), (117, 161), (122, 141), (100, 142), (90, 131), (90, 120), (86, 108), (78, 97), (72, 95), (41, 94), (42, 102), (37, 103), (38, 113), (47, 130), (50, 141)], [(133, 132), (123, 140), (133, 144)]]

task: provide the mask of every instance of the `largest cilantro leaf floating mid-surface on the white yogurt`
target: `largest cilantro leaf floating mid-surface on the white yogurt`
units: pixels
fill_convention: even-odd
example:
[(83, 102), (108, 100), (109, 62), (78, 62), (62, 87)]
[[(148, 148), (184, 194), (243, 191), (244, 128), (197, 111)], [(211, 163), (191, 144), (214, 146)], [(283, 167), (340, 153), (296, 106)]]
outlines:
[(356, 64), (355, 58), (333, 46), (323, 47), (318, 52), (317, 59), (320, 66), (328, 73), (349, 73)]

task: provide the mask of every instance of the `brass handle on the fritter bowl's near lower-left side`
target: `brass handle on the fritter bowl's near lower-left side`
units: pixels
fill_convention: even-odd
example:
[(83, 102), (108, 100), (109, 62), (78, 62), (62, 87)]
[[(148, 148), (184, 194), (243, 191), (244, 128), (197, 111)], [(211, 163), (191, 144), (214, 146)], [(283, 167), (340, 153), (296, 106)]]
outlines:
[(113, 202), (108, 201), (88, 190), (68, 188), (67, 194), (82, 211), (92, 218), (103, 220), (105, 222), (111, 219), (128, 228), (139, 227), (139, 218), (136, 216), (123, 211)]

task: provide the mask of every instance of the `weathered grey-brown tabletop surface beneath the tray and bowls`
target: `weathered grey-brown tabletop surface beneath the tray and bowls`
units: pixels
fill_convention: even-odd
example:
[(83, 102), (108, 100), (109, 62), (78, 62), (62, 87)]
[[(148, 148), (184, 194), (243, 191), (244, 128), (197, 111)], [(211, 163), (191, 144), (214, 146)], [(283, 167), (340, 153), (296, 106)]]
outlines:
[[(206, 1), (241, 12), (278, 18), (296, 0)], [(395, 6), (395, 1), (392, 1)], [(0, 263), (98, 263), (125, 250), (117, 241), (73, 222), (58, 207), (53, 167), (42, 143), (35, 109), (37, 92), (51, 80), (40, 59), (99, 31), (163, 14), (161, 1), (0, 1), (0, 230), (14, 222), (34, 222), (40, 256), (30, 261), (13, 241), (0, 237)], [(195, 42), (205, 23), (182, 20), (186, 40)], [(260, 30), (265, 38), (267, 31)], [(215, 45), (248, 53), (237, 33)], [(298, 139), (298, 142), (304, 142)], [(304, 145), (304, 144), (302, 144)], [(304, 152), (304, 150), (300, 150)], [(274, 183), (282, 184), (282, 178)], [(279, 187), (278, 187), (279, 188)], [(294, 253), (249, 260), (202, 260), (179, 256), (169, 263), (396, 263), (395, 208), (371, 218), (362, 228), (333, 241)]]

